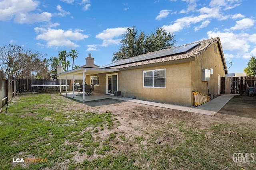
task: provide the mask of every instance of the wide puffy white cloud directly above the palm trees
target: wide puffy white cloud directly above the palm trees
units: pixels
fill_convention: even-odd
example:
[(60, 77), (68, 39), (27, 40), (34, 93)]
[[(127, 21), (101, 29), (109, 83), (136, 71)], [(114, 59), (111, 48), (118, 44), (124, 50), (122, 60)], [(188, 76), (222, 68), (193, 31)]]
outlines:
[(69, 29), (64, 31), (62, 29), (45, 29), (42, 27), (36, 27), (35, 31), (36, 33), (39, 33), (36, 36), (36, 39), (46, 41), (47, 47), (76, 48), (79, 47), (79, 45), (72, 41), (80, 41), (88, 38), (88, 35), (82, 34), (82, 30), (80, 29)]

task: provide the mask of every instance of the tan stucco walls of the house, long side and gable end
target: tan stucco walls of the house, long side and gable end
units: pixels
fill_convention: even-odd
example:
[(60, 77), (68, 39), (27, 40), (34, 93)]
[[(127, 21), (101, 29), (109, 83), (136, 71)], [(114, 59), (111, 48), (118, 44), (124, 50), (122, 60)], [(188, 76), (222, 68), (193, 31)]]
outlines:
[[(213, 68), (214, 74), (210, 74), (210, 81), (208, 81), (209, 93), (218, 94), (218, 74), (220, 77), (224, 77), (225, 72), (220, 52), (214, 52), (214, 45), (202, 54), (202, 66), (206, 69)], [(166, 88), (143, 87), (143, 71), (156, 69), (166, 69)], [(112, 73), (116, 72), (108, 74)], [(118, 90), (124, 97), (135, 96), (140, 100), (193, 106), (192, 91), (208, 94), (207, 82), (202, 82), (201, 57), (186, 63), (143, 66), (129, 70), (120, 69), (117, 73)], [(100, 86), (95, 86), (94, 92), (106, 94), (106, 74), (95, 76), (98, 75), (100, 76)], [(86, 76), (86, 82), (90, 82), (90, 76), (92, 75)]]

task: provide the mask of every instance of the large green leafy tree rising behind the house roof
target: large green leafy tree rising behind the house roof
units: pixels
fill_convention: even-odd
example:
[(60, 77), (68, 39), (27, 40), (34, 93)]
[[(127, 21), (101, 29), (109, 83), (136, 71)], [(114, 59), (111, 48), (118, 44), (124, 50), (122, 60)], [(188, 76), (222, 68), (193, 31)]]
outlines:
[(146, 35), (144, 31), (138, 34), (135, 26), (126, 29), (127, 32), (120, 41), (121, 47), (119, 51), (113, 53), (113, 62), (173, 47), (176, 43), (174, 35), (162, 28), (157, 28), (150, 35)]

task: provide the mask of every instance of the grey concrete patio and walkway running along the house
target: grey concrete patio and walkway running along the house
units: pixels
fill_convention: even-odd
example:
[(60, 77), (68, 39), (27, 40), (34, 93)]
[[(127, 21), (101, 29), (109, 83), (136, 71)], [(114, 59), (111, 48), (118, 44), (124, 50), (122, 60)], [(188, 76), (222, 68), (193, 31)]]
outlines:
[[(66, 94), (63, 94), (63, 95), (66, 95)], [(68, 93), (67, 96), (70, 98), (73, 98), (71, 93)], [(218, 96), (217, 98), (210, 100), (209, 102), (206, 102), (205, 104), (202, 104), (198, 107), (187, 107), (187, 106), (179, 106), (179, 105), (173, 105), (173, 104), (162, 104), (162, 103), (148, 102), (148, 101), (138, 100), (138, 99), (114, 97), (112, 95), (106, 95), (106, 94), (94, 94), (94, 95), (86, 96), (86, 99), (84, 102), (111, 98), (111, 99), (116, 99), (116, 100), (123, 100), (123, 101), (128, 101), (128, 102), (145, 104), (145, 105), (149, 105), (149, 106), (164, 107), (164, 108), (168, 108), (168, 109), (182, 110), (182, 111), (188, 111), (188, 112), (192, 112), (192, 113), (200, 113), (200, 114), (204, 114), (204, 115), (214, 116), (234, 96), (235, 95), (233, 95), (233, 94), (222, 94), (221, 96)], [(74, 99), (82, 101), (82, 96), (75, 96)]]

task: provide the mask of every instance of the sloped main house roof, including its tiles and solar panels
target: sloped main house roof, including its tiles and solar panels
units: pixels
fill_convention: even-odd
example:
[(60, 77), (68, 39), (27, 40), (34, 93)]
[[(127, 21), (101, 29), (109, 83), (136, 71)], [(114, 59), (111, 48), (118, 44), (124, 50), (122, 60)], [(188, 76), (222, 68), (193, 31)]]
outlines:
[[(220, 55), (222, 57), (222, 63), (225, 69), (225, 73), (228, 74), (226, 61), (224, 59), (219, 37), (206, 39), (203, 41), (198, 41), (195, 43), (190, 43), (190, 44), (181, 45), (177, 47), (172, 47), (172, 48), (168, 48), (168, 49), (164, 49), (156, 52), (151, 52), (144, 55), (139, 55), (136, 57), (132, 57), (131, 59), (124, 59), (121, 61), (117, 61), (115, 63), (102, 66), (101, 68), (119, 69), (119, 68), (133, 67), (133, 66), (142, 66), (146, 64), (162, 63), (167, 61), (178, 61), (183, 59), (195, 60), (214, 43), (218, 43), (218, 48), (220, 51)], [(173, 53), (174, 51), (176, 51), (176, 49), (183, 49), (183, 50), (177, 51), (180, 53)]]

